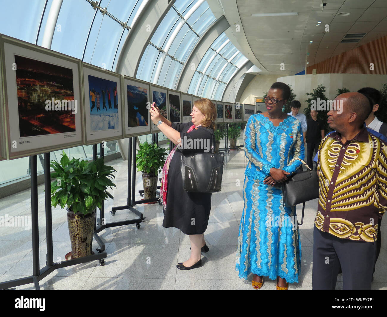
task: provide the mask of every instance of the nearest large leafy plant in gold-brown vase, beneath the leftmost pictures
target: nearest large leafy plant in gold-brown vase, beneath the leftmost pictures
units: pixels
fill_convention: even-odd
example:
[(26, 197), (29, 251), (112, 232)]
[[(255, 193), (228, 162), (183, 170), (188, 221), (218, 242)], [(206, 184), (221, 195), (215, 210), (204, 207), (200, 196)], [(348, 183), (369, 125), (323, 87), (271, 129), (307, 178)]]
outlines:
[(69, 159), (62, 153), (60, 162), (51, 161), (54, 171), (51, 177), (51, 205), (67, 207), (67, 223), (71, 240), (71, 259), (92, 254), (92, 240), (96, 207), (108, 197), (107, 188), (116, 185), (113, 172), (116, 170), (104, 165), (103, 158), (94, 161)]

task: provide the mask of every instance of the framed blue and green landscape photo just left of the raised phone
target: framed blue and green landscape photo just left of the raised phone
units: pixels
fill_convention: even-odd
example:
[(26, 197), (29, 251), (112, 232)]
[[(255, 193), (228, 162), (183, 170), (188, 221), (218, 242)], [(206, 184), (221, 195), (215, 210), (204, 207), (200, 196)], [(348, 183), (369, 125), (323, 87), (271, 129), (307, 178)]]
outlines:
[(124, 135), (133, 137), (135, 135), (144, 135), (151, 133), (151, 116), (149, 83), (123, 77), (123, 96), (124, 96)]

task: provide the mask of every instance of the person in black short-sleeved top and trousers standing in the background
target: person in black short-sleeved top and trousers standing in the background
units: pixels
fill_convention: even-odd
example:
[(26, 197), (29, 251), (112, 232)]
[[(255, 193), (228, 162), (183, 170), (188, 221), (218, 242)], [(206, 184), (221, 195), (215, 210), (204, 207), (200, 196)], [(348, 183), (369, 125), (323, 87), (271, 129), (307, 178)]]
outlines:
[[(310, 110), (311, 118), (307, 120), (308, 130), (306, 133), (307, 145), (308, 145), (308, 161), (307, 164), (313, 170), (313, 152), (319, 150), (321, 139), (324, 139), (324, 129), (322, 128), (322, 122), (317, 119), (317, 111)], [(316, 167), (317, 169), (317, 164)]]

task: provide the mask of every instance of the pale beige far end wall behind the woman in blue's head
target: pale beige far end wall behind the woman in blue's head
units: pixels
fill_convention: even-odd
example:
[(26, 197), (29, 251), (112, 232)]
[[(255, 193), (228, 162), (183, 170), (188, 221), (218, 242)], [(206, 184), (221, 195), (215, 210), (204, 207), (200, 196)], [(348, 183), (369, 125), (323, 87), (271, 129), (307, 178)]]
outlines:
[(240, 103), (255, 105), (255, 98), (262, 98), (264, 93), (270, 89), (270, 86), (277, 81), (277, 75), (257, 75), (243, 91)]

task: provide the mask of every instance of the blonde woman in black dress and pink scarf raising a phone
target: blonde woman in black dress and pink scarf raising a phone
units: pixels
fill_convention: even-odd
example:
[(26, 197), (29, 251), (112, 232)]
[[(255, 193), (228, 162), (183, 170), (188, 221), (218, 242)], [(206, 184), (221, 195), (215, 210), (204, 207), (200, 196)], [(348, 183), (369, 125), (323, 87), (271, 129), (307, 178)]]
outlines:
[(186, 192), (183, 189), (183, 177), (180, 170), (183, 153), (209, 152), (214, 146), (216, 108), (207, 98), (194, 102), (191, 122), (171, 123), (160, 114), (153, 103), (151, 119), (163, 134), (176, 146), (171, 151), (163, 168), (160, 197), (164, 202), (165, 228), (175, 227), (190, 236), (191, 256), (178, 263), (181, 270), (202, 266), (200, 252), (209, 248), (204, 241), (211, 211), (211, 193)]

